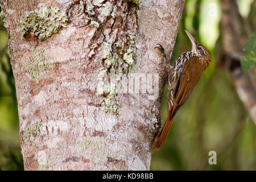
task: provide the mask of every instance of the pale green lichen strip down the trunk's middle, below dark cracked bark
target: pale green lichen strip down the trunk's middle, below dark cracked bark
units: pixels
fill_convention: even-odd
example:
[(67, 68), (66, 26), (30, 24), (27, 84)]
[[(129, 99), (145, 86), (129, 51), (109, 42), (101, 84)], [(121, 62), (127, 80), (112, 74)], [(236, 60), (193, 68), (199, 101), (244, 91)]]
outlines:
[[(101, 59), (104, 60), (105, 67), (98, 71), (99, 77), (105, 77), (104, 84), (98, 86), (96, 96), (104, 96), (101, 106), (105, 106), (106, 113), (119, 115), (121, 104), (115, 99), (118, 93), (118, 85), (121, 82), (120, 75), (136, 72), (135, 68), (135, 36), (129, 34), (129, 48), (122, 52), (122, 42), (119, 40), (113, 45), (104, 42), (100, 48)], [(110, 77), (110, 78), (108, 78)]]

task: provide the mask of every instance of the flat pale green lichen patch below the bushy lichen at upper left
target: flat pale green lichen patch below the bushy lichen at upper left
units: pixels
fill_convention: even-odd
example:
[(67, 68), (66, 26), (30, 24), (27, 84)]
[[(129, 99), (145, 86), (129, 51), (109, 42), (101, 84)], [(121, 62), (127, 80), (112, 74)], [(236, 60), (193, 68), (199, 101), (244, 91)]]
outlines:
[(52, 69), (56, 65), (56, 61), (45, 60), (44, 49), (35, 49), (32, 47), (30, 59), (25, 63), (26, 72), (31, 76), (32, 81), (38, 82), (42, 79), (46, 69)]

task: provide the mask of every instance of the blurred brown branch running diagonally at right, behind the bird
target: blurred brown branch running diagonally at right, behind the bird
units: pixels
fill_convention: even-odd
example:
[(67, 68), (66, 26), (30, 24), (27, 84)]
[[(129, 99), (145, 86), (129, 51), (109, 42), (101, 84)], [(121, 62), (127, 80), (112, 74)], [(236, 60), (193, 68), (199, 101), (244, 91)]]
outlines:
[(225, 51), (221, 60), (232, 76), (238, 96), (256, 124), (256, 80), (254, 69), (244, 74), (240, 64), (242, 49), (250, 36), (248, 35), (250, 31), (246, 31), (246, 26), (243, 26), (245, 22), (238, 12), (237, 3), (232, 0), (222, 0), (221, 8), (221, 32)]

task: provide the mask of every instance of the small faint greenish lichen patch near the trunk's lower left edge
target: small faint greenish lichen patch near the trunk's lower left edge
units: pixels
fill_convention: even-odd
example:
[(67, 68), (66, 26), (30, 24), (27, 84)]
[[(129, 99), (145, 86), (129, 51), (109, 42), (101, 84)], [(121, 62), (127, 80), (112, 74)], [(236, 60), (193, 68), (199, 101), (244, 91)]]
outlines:
[(42, 122), (37, 121), (34, 125), (27, 127), (23, 130), (23, 138), (24, 140), (32, 140), (34, 139), (42, 130)]

